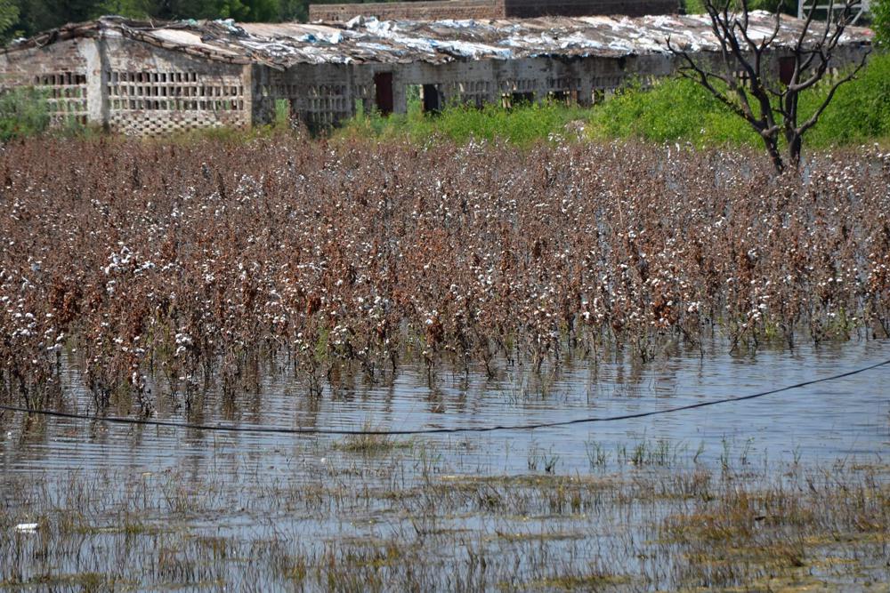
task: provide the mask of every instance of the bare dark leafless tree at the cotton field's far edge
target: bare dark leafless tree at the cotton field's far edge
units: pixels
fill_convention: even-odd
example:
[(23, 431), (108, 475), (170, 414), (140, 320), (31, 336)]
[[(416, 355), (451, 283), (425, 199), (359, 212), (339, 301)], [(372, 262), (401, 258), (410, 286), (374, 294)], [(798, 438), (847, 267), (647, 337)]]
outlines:
[[(813, 2), (792, 43), (780, 46), (777, 43), (781, 31), (780, 12), (775, 13), (774, 25), (768, 35), (752, 35), (748, 28), (748, 0), (706, 0), (711, 29), (720, 47), (716, 69), (708, 68), (706, 60), (693, 60), (688, 52), (672, 44), (669, 37), (667, 39), (668, 49), (684, 60), (680, 74), (708, 89), (717, 100), (754, 127), (764, 140), (777, 172), (784, 171), (787, 166), (797, 169), (805, 132), (819, 121), (837, 88), (853, 80), (868, 57), (868, 52), (864, 52), (862, 60), (845, 76), (833, 79), (821, 104), (801, 121), (798, 111), (800, 93), (813, 88), (829, 73), (829, 68), (834, 65), (832, 60), (837, 44), (854, 18), (854, 0), (837, 5), (830, 0), (826, 20), (815, 21), (818, 23), (815, 24), (815, 4)], [(765, 69), (771, 63), (769, 56), (773, 53), (788, 60), (789, 76), (785, 77), (784, 83), (775, 76), (773, 68), (769, 72)], [(782, 139), (787, 146), (787, 158), (781, 154)]]

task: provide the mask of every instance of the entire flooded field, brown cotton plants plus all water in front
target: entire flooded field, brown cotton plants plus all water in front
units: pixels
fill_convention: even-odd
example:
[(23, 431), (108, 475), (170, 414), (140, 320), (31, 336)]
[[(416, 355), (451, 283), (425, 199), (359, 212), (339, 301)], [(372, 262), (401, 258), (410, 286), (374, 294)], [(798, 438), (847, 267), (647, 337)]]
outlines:
[(28, 140), (0, 180), (4, 589), (887, 590), (879, 147)]

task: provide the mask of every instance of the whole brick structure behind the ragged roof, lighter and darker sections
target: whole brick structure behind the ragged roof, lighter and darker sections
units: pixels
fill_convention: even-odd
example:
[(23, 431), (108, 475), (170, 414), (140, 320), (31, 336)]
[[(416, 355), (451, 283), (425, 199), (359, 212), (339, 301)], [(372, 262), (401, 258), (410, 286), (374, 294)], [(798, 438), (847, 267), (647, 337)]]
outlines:
[(309, 20), (344, 22), (362, 15), (380, 20), (534, 19), (595, 14), (672, 14), (678, 0), (440, 0), (374, 4), (310, 4)]

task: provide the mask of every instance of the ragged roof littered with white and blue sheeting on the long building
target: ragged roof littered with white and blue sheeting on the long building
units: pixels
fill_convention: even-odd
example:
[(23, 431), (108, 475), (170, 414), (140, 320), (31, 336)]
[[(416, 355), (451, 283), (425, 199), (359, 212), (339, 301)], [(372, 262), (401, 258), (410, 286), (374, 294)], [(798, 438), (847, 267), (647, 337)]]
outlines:
[[(773, 32), (775, 16), (751, 12), (755, 40)], [(804, 21), (782, 15), (778, 45), (799, 36)], [(813, 25), (815, 35), (821, 25)], [(454, 60), (515, 60), (531, 57), (612, 57), (667, 53), (672, 44), (691, 52), (716, 50), (708, 15), (546, 17), (513, 20), (377, 20), (346, 23), (235, 23), (189, 20), (150, 23), (103, 17), (19, 40), (4, 52), (41, 47), (78, 36), (125, 36), (211, 60), (295, 64), (363, 62), (444, 63)], [(850, 27), (841, 44), (871, 44), (868, 28)]]

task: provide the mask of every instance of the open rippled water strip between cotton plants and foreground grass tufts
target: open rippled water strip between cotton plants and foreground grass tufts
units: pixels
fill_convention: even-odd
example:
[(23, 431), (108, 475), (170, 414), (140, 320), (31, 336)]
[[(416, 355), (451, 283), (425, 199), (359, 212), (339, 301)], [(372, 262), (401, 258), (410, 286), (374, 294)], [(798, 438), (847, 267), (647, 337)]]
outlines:
[[(373, 384), (357, 374), (348, 388), (326, 386), (310, 400), (287, 373), (265, 373), (257, 393), (223, 405), (207, 401), (199, 413), (164, 409), (155, 418), (206, 425), (287, 429), (424, 430), (481, 428), (573, 421), (641, 413), (740, 397), (845, 373), (890, 358), (890, 343), (862, 341), (756, 355), (698, 352), (651, 363), (611, 360), (563, 365), (539, 376), (522, 365), (507, 366), (496, 379), (484, 373), (436, 373), (402, 367), (395, 381)], [(92, 413), (92, 397), (70, 377), (66, 411)], [(187, 467), (225, 472), (221, 455), (272, 469), (310, 463), (313, 449), (343, 437), (257, 435), (197, 429), (134, 427), (93, 421), (46, 419), (22, 423), (4, 416), (0, 467), (4, 475), (74, 469), (159, 471)], [(557, 471), (588, 469), (587, 445), (614, 451), (642, 440), (722, 453), (727, 442), (749, 453), (798, 461), (833, 461), (848, 455), (890, 453), (890, 365), (867, 373), (792, 389), (773, 396), (648, 418), (578, 423), (537, 430), (423, 436), (430, 443), (465, 445), (451, 460), (458, 470), (515, 473), (528, 469), (528, 453), (557, 456)], [(443, 447), (451, 451), (451, 447)], [(326, 454), (326, 458), (330, 455)]]

